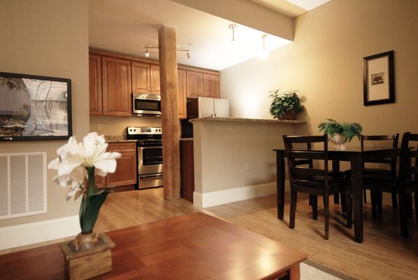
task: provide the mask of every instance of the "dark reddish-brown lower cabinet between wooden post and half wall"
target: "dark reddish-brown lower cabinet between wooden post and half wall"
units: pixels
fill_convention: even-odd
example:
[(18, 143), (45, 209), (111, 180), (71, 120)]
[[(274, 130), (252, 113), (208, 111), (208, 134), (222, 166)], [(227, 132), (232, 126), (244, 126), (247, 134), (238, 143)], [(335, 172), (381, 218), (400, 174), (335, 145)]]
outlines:
[(194, 153), (193, 140), (180, 141), (180, 197), (193, 202)]

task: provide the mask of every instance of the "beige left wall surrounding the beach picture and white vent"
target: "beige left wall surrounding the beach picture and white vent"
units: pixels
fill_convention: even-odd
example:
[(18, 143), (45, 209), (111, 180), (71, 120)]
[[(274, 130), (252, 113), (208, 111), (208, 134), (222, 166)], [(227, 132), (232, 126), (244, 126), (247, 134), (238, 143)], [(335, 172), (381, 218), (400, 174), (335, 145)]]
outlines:
[[(84, 0), (1, 0), (0, 71), (70, 78), (73, 134), (89, 132), (88, 5)], [(0, 153), (45, 151), (48, 162), (66, 141), (1, 142)], [(66, 202), (66, 190), (48, 171), (48, 213), (10, 218), (0, 227), (78, 214), (79, 202)]]

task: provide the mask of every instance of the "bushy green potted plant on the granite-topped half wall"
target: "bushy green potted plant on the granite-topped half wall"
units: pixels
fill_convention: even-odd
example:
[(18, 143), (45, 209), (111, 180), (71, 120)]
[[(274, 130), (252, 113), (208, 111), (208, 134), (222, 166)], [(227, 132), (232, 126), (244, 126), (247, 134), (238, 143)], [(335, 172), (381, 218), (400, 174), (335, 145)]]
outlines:
[(279, 120), (296, 120), (296, 115), (303, 112), (305, 107), (301, 104), (301, 98), (296, 94), (298, 90), (287, 90), (279, 92), (274, 90), (268, 97), (273, 98), (271, 102), (270, 113)]

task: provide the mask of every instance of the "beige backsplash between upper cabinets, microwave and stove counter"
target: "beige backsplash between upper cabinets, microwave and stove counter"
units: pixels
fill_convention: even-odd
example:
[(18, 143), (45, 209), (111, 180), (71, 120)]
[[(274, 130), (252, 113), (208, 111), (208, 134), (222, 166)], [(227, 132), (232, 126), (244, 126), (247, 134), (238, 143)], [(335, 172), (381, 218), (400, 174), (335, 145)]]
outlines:
[(90, 116), (90, 132), (125, 136), (127, 127), (161, 127), (161, 118)]

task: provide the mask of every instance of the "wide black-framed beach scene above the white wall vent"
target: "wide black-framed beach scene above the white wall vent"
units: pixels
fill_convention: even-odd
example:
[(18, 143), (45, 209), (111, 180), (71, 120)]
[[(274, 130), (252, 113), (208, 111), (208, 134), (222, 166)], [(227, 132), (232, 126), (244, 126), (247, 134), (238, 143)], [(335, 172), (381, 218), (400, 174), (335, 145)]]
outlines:
[(0, 141), (72, 134), (70, 79), (0, 72)]

